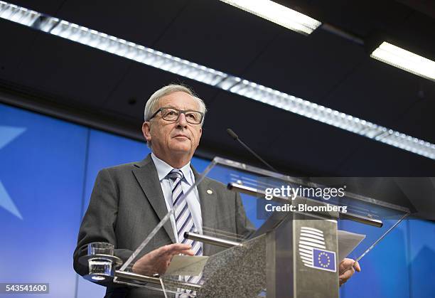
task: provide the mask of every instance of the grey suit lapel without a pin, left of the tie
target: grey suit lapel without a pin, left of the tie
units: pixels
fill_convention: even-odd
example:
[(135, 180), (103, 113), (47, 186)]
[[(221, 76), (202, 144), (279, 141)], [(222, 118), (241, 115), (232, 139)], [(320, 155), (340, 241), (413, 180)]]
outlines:
[[(136, 164), (137, 168), (133, 170), (133, 174), (139, 185), (144, 191), (146, 199), (148, 199), (151, 206), (154, 208), (157, 216), (160, 220), (168, 213), (166, 208), (165, 198), (163, 196), (163, 191), (161, 191), (161, 185), (159, 181), (159, 175), (157, 174), (156, 166), (151, 159), (151, 154), (146, 156), (146, 158)], [(176, 240), (173, 235), (173, 229), (171, 225), (171, 220), (168, 220), (163, 228), (166, 230), (169, 238), (175, 243)]]

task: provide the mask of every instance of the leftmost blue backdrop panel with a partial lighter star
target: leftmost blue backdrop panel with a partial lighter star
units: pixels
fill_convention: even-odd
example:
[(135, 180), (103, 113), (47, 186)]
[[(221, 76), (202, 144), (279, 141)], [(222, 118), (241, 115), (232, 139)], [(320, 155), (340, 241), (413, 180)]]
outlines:
[(0, 105), (0, 282), (75, 296), (86, 142), (84, 127)]

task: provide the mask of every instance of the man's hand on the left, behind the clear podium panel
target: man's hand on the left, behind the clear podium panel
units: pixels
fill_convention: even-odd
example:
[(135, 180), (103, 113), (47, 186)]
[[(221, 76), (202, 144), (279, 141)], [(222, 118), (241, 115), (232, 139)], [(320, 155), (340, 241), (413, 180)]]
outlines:
[(174, 255), (195, 255), (188, 244), (174, 243), (162, 246), (137, 260), (133, 265), (133, 272), (140, 275), (163, 275), (168, 269)]

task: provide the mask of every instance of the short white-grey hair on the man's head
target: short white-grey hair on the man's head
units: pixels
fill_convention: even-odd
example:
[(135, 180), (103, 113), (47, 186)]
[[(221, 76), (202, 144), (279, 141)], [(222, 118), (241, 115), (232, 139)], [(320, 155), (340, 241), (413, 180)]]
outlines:
[[(161, 87), (159, 90), (154, 92), (153, 95), (151, 95), (151, 97), (149, 97), (149, 100), (146, 101), (146, 105), (145, 105), (144, 120), (149, 121), (151, 116), (154, 114), (154, 112), (156, 112), (156, 107), (159, 104), (159, 100), (161, 99), (161, 97), (170, 95), (173, 92), (185, 92), (188, 95), (193, 96), (193, 98), (195, 98), (195, 100), (198, 102), (200, 112), (203, 112), (205, 116), (205, 113), (207, 112), (207, 107), (205, 107), (205, 102), (201, 100), (198, 96), (196, 96), (195, 92), (193, 92), (193, 90), (191, 90), (190, 87), (186, 85), (171, 84), (171, 85)], [(203, 126), (204, 124), (204, 118), (205, 117), (203, 117), (201, 126)]]

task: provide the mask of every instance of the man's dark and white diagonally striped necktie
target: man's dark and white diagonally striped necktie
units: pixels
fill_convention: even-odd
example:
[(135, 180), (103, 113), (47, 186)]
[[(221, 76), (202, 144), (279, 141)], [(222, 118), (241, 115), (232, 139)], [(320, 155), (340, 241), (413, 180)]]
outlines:
[[(176, 218), (176, 227), (178, 234), (178, 242), (190, 244), (195, 255), (203, 255), (201, 243), (195, 240), (184, 238), (185, 232), (195, 231), (195, 223), (193, 223), (192, 214), (190, 213), (186, 198), (183, 196), (183, 188), (181, 188), (181, 180), (183, 180), (183, 172), (179, 169), (173, 169), (168, 178), (173, 181), (172, 186), (172, 202), (175, 208), (174, 216)], [(198, 283), (201, 280), (199, 276), (186, 276), (186, 282)], [(187, 293), (191, 291), (186, 290)]]

